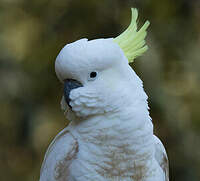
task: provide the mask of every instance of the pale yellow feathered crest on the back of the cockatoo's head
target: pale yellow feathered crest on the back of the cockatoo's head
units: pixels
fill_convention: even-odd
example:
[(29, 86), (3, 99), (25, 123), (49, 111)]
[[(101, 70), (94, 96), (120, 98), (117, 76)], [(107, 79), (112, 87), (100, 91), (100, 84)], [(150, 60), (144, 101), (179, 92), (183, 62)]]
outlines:
[(145, 45), (145, 37), (147, 35), (146, 29), (150, 24), (149, 21), (146, 21), (138, 31), (136, 22), (138, 11), (136, 8), (131, 8), (131, 12), (131, 24), (122, 34), (114, 39), (114, 42), (123, 50), (129, 63), (133, 62), (136, 57), (142, 55), (148, 49), (148, 46)]

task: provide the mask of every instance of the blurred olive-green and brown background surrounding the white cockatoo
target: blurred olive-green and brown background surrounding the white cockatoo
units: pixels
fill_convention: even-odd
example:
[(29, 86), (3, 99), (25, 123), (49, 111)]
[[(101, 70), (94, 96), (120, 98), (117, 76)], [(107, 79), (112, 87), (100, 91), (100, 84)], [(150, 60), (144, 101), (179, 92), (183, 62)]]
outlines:
[(144, 81), (171, 181), (200, 180), (199, 0), (1, 0), (0, 180), (35, 181), (44, 153), (67, 125), (54, 61), (77, 39), (116, 37), (130, 7), (149, 20), (149, 50), (133, 69)]

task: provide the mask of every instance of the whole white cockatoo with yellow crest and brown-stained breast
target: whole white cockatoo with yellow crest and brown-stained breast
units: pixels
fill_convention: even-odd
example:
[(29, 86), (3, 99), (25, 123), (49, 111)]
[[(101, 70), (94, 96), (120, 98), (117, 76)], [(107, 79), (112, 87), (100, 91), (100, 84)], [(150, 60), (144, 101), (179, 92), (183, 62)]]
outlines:
[(153, 133), (143, 83), (129, 63), (147, 50), (146, 21), (116, 38), (67, 44), (55, 62), (70, 124), (52, 141), (40, 181), (168, 181), (168, 158)]

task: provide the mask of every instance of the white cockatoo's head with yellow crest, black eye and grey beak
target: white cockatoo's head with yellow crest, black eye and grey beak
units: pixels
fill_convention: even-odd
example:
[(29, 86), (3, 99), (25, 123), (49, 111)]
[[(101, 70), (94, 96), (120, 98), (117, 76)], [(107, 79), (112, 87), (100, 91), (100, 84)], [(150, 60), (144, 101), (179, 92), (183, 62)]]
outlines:
[(149, 23), (137, 31), (136, 19), (137, 10), (132, 9), (128, 31), (117, 38), (81, 39), (61, 50), (55, 70), (64, 83), (64, 109), (88, 117), (146, 102), (142, 81), (129, 66), (147, 49), (144, 38)]

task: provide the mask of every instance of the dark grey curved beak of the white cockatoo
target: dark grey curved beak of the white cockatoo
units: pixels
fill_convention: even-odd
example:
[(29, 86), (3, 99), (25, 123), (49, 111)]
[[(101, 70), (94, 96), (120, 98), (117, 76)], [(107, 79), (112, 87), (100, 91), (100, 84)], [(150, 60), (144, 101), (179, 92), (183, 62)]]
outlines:
[(83, 85), (74, 79), (66, 79), (64, 81), (64, 98), (70, 108), (71, 108), (71, 106), (69, 105), (69, 102), (71, 101), (69, 98), (70, 91), (78, 87), (83, 87)]

